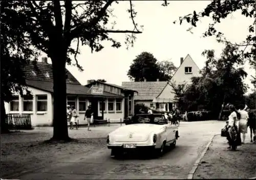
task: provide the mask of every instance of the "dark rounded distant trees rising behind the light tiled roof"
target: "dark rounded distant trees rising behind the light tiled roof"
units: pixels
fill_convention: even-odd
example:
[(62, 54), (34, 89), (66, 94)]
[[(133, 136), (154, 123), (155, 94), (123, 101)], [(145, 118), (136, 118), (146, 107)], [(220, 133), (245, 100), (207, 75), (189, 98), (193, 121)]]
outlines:
[(167, 81), (176, 69), (173, 62), (158, 62), (153, 54), (142, 52), (133, 60), (127, 75), (134, 81)]

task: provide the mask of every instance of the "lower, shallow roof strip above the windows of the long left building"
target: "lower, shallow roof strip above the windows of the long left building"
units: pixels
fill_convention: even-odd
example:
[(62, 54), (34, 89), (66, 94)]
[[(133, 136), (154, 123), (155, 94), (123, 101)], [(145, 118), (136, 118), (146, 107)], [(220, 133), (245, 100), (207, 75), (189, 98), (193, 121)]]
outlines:
[[(42, 91), (47, 91), (53, 93), (53, 82), (50, 81), (38, 81), (38, 80), (26, 80), (28, 86), (41, 89)], [(123, 96), (116, 95), (108, 92), (103, 92), (103, 95), (92, 95), (90, 88), (83, 86), (81, 84), (71, 84), (67, 83), (67, 94), (69, 95), (84, 95), (90, 97), (116, 97), (121, 98)]]

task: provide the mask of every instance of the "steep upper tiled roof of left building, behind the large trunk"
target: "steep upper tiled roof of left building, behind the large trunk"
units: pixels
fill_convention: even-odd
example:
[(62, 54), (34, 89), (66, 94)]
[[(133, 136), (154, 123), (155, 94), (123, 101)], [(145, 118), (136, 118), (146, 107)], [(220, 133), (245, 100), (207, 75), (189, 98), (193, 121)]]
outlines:
[[(37, 61), (36, 65), (34, 65), (33, 61), (31, 61), (29, 64), (27, 64), (24, 67), (24, 71), (25, 71), (27, 80), (39, 80), (39, 81), (53, 82), (52, 64)], [(36, 75), (33, 75), (32, 71)], [(66, 72), (67, 72), (66, 74), (68, 76), (68, 78), (66, 80), (67, 83), (80, 84), (68, 70), (66, 70)], [(46, 74), (48, 74), (49, 77), (46, 77)]]

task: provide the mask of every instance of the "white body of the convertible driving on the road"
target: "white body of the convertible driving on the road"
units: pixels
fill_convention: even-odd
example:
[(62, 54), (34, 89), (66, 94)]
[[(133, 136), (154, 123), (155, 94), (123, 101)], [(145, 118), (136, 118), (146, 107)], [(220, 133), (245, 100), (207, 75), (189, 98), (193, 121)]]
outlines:
[[(154, 134), (156, 142), (153, 141)], [(149, 124), (137, 123), (121, 126), (108, 134), (108, 148), (153, 148), (160, 149), (162, 145), (176, 143), (178, 127), (170, 123)], [(130, 146), (131, 145), (131, 146)]]

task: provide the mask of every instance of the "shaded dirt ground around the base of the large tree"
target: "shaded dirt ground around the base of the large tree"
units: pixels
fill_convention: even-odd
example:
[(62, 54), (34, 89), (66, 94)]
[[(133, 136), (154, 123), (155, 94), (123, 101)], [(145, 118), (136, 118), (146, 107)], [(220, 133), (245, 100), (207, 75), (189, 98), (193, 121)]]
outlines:
[(89, 154), (106, 144), (106, 134), (116, 127), (92, 127), (69, 130), (69, 143), (46, 144), (52, 137), (52, 128), (1, 134), (1, 177), (38, 169), (77, 154)]

